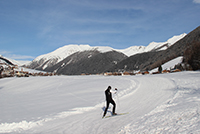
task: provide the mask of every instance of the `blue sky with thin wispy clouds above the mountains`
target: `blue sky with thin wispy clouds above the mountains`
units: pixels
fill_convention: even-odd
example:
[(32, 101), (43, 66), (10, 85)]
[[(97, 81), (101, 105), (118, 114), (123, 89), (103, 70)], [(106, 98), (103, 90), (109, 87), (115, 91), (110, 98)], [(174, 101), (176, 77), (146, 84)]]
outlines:
[(0, 55), (33, 60), (68, 44), (123, 49), (200, 25), (200, 0), (0, 0)]

